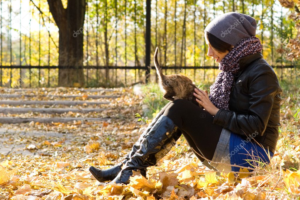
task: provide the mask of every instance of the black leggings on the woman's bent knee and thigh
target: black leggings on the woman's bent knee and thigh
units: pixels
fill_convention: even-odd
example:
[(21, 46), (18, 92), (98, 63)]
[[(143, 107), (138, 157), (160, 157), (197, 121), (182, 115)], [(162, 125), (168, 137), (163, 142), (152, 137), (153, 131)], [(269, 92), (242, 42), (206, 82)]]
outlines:
[[(178, 99), (161, 109), (182, 131), (184, 138), (202, 162), (212, 160), (223, 127), (212, 124), (214, 117), (190, 101)], [(200, 154), (201, 156), (197, 155)]]

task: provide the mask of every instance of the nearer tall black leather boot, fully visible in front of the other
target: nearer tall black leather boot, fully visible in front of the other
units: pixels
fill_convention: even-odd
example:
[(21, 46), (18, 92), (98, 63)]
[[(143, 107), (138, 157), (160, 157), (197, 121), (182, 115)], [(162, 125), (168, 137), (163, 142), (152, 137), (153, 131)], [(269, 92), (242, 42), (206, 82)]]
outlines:
[(181, 131), (167, 116), (162, 115), (144, 136), (140, 149), (125, 163), (121, 172), (111, 183), (129, 182), (135, 169), (154, 166), (176, 144)]

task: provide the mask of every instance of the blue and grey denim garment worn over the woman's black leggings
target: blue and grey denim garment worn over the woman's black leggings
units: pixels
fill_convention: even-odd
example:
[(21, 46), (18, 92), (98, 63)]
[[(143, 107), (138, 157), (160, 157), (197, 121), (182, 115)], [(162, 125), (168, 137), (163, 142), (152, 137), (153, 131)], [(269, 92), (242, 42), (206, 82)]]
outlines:
[(273, 156), (272, 152), (223, 128), (212, 162), (208, 163), (218, 171), (239, 172), (240, 167), (230, 165), (254, 168), (259, 163), (269, 163), (268, 154)]

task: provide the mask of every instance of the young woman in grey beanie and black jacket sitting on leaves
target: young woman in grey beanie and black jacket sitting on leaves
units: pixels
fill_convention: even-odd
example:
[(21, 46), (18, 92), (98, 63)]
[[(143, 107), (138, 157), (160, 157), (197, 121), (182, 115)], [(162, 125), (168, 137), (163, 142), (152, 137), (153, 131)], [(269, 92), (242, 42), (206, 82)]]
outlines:
[[(125, 160), (100, 170), (100, 182), (128, 183), (133, 170), (146, 177), (183, 134), (203, 164), (219, 171), (239, 171), (270, 162), (278, 139), (281, 88), (272, 67), (262, 58), (255, 37), (256, 21), (241, 13), (225, 13), (205, 28), (208, 56), (221, 72), (210, 87), (194, 95), (199, 105), (169, 102), (134, 144)], [(231, 166), (235, 165), (235, 166)]]

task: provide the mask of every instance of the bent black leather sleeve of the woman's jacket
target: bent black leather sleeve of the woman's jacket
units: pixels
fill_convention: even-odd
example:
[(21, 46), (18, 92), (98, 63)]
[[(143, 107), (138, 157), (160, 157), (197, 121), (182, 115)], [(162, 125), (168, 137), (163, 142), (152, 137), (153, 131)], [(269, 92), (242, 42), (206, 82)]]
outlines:
[(273, 107), (274, 97), (280, 91), (277, 76), (268, 70), (249, 80), (249, 108), (246, 114), (220, 109), (214, 116), (214, 124), (233, 133), (250, 136), (263, 135)]

